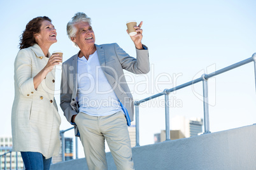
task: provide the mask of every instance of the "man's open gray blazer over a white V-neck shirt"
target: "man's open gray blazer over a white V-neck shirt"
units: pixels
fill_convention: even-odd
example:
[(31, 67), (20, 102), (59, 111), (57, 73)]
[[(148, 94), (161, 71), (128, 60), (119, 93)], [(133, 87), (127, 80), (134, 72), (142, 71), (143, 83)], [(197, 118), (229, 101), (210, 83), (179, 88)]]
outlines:
[[(143, 45), (144, 46), (144, 45)], [(146, 48), (146, 46), (144, 46)], [(127, 109), (131, 121), (134, 119), (134, 103), (129, 87), (124, 77), (123, 69), (134, 74), (146, 74), (150, 71), (148, 49), (136, 49), (137, 58), (129, 56), (117, 43), (97, 45), (99, 63), (106, 79), (110, 82), (115, 95)], [(79, 54), (79, 53), (78, 53)], [(78, 54), (71, 56), (62, 64), (62, 79), (60, 85), (60, 107), (66, 119), (71, 123), (71, 117), (78, 114), (76, 98), (78, 87), (77, 62)], [(72, 123), (71, 123), (72, 124)], [(75, 124), (74, 124), (75, 125)], [(75, 134), (78, 129), (75, 125)]]

